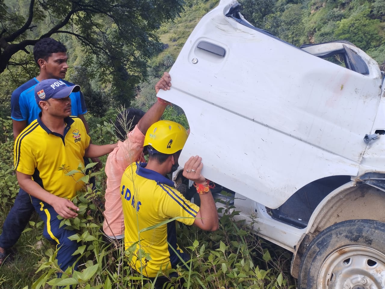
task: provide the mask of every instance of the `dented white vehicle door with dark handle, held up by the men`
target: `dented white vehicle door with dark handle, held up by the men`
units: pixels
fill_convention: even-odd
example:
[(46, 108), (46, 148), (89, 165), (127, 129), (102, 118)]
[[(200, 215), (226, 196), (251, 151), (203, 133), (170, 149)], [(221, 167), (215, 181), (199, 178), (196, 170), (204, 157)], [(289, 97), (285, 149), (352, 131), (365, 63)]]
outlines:
[(221, 1), (191, 33), (158, 96), (180, 106), (191, 128), (180, 164), (203, 158), (206, 178), (277, 208), (332, 175), (355, 176), (380, 101), (368, 73), (323, 60), (226, 17)]

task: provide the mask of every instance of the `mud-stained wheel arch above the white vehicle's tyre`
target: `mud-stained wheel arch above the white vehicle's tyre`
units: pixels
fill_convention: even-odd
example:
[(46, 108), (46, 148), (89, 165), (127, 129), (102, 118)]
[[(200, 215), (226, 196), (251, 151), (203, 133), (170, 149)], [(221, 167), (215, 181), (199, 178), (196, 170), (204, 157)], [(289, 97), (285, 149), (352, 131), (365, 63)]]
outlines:
[(308, 244), (324, 229), (353, 219), (372, 219), (385, 223), (385, 192), (365, 183), (352, 184), (333, 191), (314, 211), (308, 231), (303, 234), (293, 254), (290, 268), (293, 277), (298, 278), (301, 258)]

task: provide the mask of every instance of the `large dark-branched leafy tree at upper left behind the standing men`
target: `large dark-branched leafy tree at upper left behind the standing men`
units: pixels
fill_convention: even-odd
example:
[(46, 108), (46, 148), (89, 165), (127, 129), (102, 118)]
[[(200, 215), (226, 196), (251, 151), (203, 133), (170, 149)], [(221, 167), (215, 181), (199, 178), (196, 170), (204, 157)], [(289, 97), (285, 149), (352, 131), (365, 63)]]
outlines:
[(41, 38), (54, 37), (75, 52), (70, 57), (78, 58), (75, 69), (84, 78), (80, 85), (87, 78), (97, 78), (108, 83), (104, 89), (118, 103), (132, 99), (135, 86), (146, 77), (147, 61), (161, 50), (156, 30), (182, 12), (182, 3), (0, 0), (1, 76), (17, 85), (36, 76), (33, 45)]

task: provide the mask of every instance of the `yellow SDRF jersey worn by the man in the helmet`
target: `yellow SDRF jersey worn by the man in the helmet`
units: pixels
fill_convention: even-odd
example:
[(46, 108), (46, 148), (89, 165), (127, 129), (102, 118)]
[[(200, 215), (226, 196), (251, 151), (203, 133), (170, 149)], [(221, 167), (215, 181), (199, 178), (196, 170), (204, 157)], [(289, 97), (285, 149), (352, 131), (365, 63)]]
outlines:
[[(124, 172), (121, 183), (121, 198), (124, 213), (124, 242), (126, 249), (136, 244), (150, 254), (151, 260), (139, 254), (132, 259), (131, 267), (147, 277), (155, 277), (159, 271), (165, 272), (186, 258), (176, 243), (176, 221), (163, 224), (155, 229), (139, 231), (175, 217), (187, 217), (178, 221), (192, 225), (199, 207), (187, 201), (174, 188), (174, 182), (165, 176), (146, 169), (146, 163), (132, 163)], [(170, 246), (169, 246), (169, 244)], [(174, 248), (174, 250), (172, 249)], [(142, 267), (142, 268), (141, 268)]]

